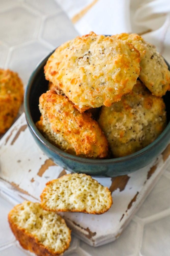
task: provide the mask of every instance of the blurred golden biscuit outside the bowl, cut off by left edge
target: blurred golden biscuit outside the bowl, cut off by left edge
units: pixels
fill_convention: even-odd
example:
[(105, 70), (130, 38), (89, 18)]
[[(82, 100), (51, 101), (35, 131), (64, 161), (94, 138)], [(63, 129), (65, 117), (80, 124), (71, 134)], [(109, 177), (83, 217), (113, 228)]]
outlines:
[(22, 101), (23, 84), (18, 74), (9, 69), (0, 69), (0, 134), (11, 126)]

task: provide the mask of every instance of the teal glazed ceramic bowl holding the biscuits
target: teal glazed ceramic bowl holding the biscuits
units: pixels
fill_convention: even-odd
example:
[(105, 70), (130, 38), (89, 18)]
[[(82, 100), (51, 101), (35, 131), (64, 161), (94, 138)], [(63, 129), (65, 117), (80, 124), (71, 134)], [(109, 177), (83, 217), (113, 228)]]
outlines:
[[(163, 97), (167, 111), (167, 127), (155, 141), (134, 154), (113, 159), (88, 159), (66, 153), (48, 142), (38, 131), (35, 123), (40, 119), (39, 97), (48, 90), (44, 66), (51, 54), (52, 52), (37, 65), (24, 94), (24, 111), (28, 127), (38, 146), (49, 158), (73, 173), (114, 177), (132, 173), (147, 166), (163, 152), (170, 141), (170, 91)], [(169, 65), (168, 68), (170, 70)]]

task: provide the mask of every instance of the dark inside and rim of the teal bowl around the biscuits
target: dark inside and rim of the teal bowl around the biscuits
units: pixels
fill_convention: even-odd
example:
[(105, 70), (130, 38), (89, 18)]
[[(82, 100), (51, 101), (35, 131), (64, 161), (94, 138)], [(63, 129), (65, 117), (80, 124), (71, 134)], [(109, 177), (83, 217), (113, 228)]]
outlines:
[[(46, 92), (48, 90), (48, 81), (45, 79), (44, 76), (44, 66), (49, 58), (49, 56), (52, 54), (52, 52), (45, 57), (35, 68), (35, 70), (33, 71), (29, 81), (28, 81), (28, 85), (27, 88), (25, 90), (25, 95), (24, 95), (24, 109), (27, 115), (27, 121), (29, 121), (29, 125), (31, 126), (31, 129), (34, 131), (34, 134), (36, 134), (37, 137), (40, 137), (40, 140), (42, 140), (43, 135), (40, 134), (40, 136), (38, 136), (37, 134), (39, 133), (35, 123), (40, 119), (40, 111), (38, 108), (38, 104), (39, 104), (39, 97), (41, 96), (42, 93)], [(166, 62), (167, 63), (167, 62)], [(168, 65), (168, 63), (167, 63)], [(170, 66), (168, 65), (168, 68), (170, 70)], [(152, 142), (150, 145), (148, 145), (147, 147), (145, 147), (144, 149), (125, 156), (125, 157), (119, 157), (119, 158), (113, 158), (113, 159), (101, 159), (101, 160), (95, 160), (95, 159), (86, 159), (86, 158), (82, 158), (82, 157), (77, 157), (77, 156), (73, 156), (70, 155), (66, 152), (61, 151), (60, 149), (58, 149), (57, 147), (54, 147), (53, 145), (51, 145), (50, 143), (48, 143), (46, 141), (46, 139), (43, 137), (43, 141), (46, 141), (45, 144), (47, 146), (50, 145), (50, 147), (53, 148), (53, 150), (56, 149), (56, 152), (64, 154), (67, 157), (72, 158), (73, 160), (79, 158), (80, 161), (85, 162), (88, 161), (89, 163), (96, 163), (98, 161), (100, 161), (100, 163), (106, 163), (106, 162), (120, 162), (120, 161), (126, 161), (126, 159), (129, 158), (133, 158), (136, 157), (139, 154), (142, 154), (143, 152), (149, 150), (150, 147), (154, 146), (154, 144), (156, 144), (158, 142), (158, 140), (161, 138), (163, 138), (163, 135), (167, 132), (167, 130), (170, 132), (170, 91), (166, 92), (166, 95), (163, 96), (165, 105), (166, 105), (166, 112), (167, 112), (167, 127), (166, 129), (163, 131), (163, 133), (154, 141)]]

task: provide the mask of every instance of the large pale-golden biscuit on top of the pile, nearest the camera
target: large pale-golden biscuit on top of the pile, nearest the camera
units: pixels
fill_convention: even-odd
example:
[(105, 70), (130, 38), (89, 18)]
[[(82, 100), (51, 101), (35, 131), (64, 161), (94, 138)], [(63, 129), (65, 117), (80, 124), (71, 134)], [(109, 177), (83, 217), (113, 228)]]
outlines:
[(44, 72), (82, 113), (129, 93), (139, 76), (139, 57), (132, 44), (91, 32), (59, 46)]

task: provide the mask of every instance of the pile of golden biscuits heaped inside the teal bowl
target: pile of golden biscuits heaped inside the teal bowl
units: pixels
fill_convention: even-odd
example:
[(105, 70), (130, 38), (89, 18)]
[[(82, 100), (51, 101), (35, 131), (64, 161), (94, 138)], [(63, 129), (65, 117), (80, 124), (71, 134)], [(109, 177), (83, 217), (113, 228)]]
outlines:
[(155, 46), (137, 34), (76, 37), (49, 57), (49, 90), (40, 97), (40, 132), (87, 158), (132, 154), (166, 127), (162, 96), (170, 71)]

